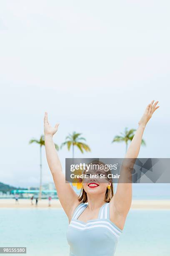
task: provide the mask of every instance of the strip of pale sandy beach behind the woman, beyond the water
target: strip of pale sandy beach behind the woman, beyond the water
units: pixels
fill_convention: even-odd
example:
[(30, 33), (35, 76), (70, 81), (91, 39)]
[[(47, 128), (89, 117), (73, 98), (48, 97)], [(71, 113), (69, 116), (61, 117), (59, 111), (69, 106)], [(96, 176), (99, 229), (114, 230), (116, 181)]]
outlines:
[[(19, 203), (15, 203), (15, 199), (0, 199), (0, 207), (6, 208), (48, 208), (48, 200), (42, 199), (38, 201), (38, 205), (31, 205), (29, 199), (19, 199)], [(62, 208), (60, 201), (54, 199), (51, 201), (51, 208)], [(131, 209), (170, 209), (170, 200), (133, 200)]]

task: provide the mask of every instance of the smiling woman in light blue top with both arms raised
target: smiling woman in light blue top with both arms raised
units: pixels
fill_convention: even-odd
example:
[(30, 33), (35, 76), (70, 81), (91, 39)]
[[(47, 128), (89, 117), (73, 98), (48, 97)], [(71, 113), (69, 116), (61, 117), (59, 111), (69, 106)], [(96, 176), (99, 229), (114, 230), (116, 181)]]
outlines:
[[(145, 126), (159, 108), (156, 106), (158, 101), (153, 103), (154, 100), (138, 122), (138, 129), (125, 159), (138, 157)], [(102, 183), (96, 179), (87, 179), (83, 181), (83, 195), (79, 197), (70, 183), (65, 183), (65, 175), (52, 140), (58, 125), (52, 128), (45, 113), (45, 151), (60, 203), (69, 221), (67, 241), (70, 244), (70, 256), (113, 256), (130, 210), (132, 183), (118, 183), (113, 196), (112, 182), (109, 180)], [(123, 172), (126, 174), (125, 169)]]

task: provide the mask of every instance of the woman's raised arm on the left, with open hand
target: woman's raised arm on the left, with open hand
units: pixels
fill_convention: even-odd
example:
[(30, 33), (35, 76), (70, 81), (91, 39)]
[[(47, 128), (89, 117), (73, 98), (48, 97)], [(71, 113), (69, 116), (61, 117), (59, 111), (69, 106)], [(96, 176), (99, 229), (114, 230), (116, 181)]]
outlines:
[(60, 159), (57, 155), (55, 144), (52, 139), (53, 135), (57, 132), (58, 125), (59, 124), (56, 124), (53, 128), (48, 123), (47, 112), (45, 112), (44, 135), (47, 163), (55, 183), (60, 203), (67, 214), (68, 219), (70, 220), (75, 207), (77, 207), (80, 202), (78, 201), (78, 195), (75, 193), (74, 189), (72, 189), (70, 183), (65, 183), (65, 175), (62, 172)]

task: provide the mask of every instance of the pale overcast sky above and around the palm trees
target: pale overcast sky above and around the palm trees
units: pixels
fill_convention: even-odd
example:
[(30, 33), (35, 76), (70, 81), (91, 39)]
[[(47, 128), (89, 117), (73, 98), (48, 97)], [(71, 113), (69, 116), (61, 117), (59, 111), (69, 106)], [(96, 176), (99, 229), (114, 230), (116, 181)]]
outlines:
[[(39, 185), (39, 146), (47, 111), (60, 123), (54, 141), (80, 132), (91, 153), (123, 157), (111, 144), (125, 127), (137, 128), (151, 100), (138, 157), (170, 157), (169, 1), (2, 0), (0, 3), (0, 182)], [(71, 157), (59, 151), (64, 166)], [(42, 150), (43, 183), (52, 177)]]

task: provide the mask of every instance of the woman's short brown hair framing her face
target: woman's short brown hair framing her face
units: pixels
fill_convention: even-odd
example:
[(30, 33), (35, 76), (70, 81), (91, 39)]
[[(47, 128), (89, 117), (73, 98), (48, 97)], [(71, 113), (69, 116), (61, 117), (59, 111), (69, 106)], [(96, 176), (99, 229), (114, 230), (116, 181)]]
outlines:
[[(100, 164), (100, 165), (104, 165), (105, 166), (105, 164), (103, 162), (101, 162), (101, 161), (92, 161), (92, 162), (90, 162), (90, 164)], [(85, 170), (84, 170), (83, 174), (85, 174)], [(110, 170), (106, 171), (106, 174), (107, 175), (111, 174)], [(110, 179), (107, 178), (107, 180), (109, 181)], [(104, 201), (105, 202), (110, 202), (110, 200), (112, 199), (113, 195), (114, 195), (114, 186), (113, 186), (113, 183), (111, 183), (110, 189), (108, 189), (108, 188), (106, 189), (105, 200)], [(81, 188), (78, 200), (79, 200), (79, 202), (82, 201), (83, 203), (88, 202), (88, 200), (87, 200), (87, 193), (85, 192), (83, 186)]]

